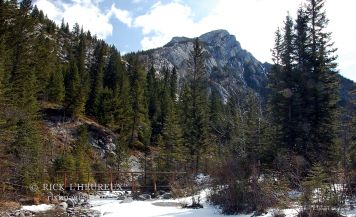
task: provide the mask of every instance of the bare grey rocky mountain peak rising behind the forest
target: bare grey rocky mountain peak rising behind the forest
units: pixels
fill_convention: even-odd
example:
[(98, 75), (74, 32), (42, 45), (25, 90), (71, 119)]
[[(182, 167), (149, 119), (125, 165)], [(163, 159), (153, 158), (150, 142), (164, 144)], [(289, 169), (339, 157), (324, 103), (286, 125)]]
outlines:
[[(235, 36), (226, 30), (215, 30), (199, 37), (205, 54), (205, 68), (211, 87), (217, 88), (221, 95), (228, 96), (236, 88), (252, 88), (257, 93), (266, 92), (268, 63), (261, 63), (251, 53), (242, 49)], [(174, 37), (161, 48), (140, 53), (146, 70), (152, 65), (159, 72), (164, 67), (176, 67), (180, 83), (188, 71), (190, 52), (194, 39)]]

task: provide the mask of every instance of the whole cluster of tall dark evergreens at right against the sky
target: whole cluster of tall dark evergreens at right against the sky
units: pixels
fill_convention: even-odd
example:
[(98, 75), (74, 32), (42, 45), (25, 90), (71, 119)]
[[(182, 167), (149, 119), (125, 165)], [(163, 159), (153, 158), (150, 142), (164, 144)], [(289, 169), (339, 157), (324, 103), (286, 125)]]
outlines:
[(323, 0), (310, 0), (300, 8), (295, 32), (287, 17), (270, 76), (279, 143), (311, 163), (331, 160), (335, 149), (338, 79), (323, 6)]

